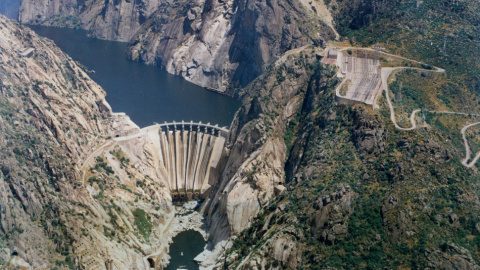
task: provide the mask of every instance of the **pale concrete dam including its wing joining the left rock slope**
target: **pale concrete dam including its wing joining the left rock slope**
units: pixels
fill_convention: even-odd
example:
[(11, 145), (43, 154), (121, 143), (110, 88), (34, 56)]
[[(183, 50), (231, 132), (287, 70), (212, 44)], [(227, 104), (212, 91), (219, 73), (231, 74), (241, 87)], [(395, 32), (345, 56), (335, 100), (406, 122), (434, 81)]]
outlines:
[(149, 175), (168, 187), (173, 202), (182, 202), (202, 198), (216, 185), (229, 133), (227, 127), (210, 123), (165, 122), (128, 133), (119, 130), (102, 151), (106, 154), (118, 145), (137, 162), (148, 160), (144, 166)]

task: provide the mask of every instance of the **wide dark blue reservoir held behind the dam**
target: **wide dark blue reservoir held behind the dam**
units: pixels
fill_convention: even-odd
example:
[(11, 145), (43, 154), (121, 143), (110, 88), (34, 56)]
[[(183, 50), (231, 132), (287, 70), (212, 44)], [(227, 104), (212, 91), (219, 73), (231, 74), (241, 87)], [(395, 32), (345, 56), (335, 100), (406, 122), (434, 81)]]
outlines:
[[(0, 0), (4, 1), (4, 0)], [(107, 92), (114, 112), (140, 127), (164, 121), (202, 121), (230, 126), (240, 102), (125, 57), (127, 43), (89, 38), (82, 30), (30, 26), (64, 52), (95, 70), (90, 77)]]

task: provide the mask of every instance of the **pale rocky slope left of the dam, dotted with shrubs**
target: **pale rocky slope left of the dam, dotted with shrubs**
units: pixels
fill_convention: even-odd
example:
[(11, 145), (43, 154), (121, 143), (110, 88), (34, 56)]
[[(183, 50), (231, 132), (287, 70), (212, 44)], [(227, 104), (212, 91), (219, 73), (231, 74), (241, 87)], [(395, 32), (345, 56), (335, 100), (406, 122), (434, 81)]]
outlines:
[(138, 128), (53, 42), (3, 16), (0, 33), (0, 265), (144, 269), (153, 251), (166, 259), (174, 212), (164, 189), (133, 165), (126, 181), (108, 152), (85, 162)]

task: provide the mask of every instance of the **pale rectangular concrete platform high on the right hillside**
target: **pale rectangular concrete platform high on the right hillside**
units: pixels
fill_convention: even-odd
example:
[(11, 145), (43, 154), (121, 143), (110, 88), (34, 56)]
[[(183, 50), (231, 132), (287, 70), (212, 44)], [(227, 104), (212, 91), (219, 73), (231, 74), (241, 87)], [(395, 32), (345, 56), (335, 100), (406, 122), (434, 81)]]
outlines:
[[(337, 88), (336, 100), (346, 104), (365, 104), (375, 109), (382, 93), (381, 66), (378, 55), (367, 50), (355, 50), (350, 55), (340, 51), (337, 57), (339, 77), (344, 77)], [(348, 83), (345, 94), (340, 93), (344, 83)]]

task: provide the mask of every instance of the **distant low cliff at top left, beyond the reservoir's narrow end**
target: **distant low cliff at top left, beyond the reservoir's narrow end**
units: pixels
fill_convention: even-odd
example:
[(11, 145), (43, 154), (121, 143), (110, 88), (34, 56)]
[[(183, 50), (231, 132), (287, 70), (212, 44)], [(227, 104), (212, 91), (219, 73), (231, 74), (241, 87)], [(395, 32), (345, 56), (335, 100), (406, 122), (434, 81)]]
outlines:
[(19, 21), (81, 27), (99, 39), (129, 41), (161, 0), (22, 0)]

